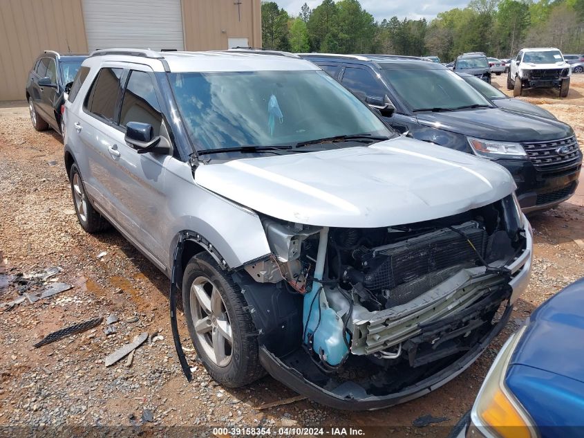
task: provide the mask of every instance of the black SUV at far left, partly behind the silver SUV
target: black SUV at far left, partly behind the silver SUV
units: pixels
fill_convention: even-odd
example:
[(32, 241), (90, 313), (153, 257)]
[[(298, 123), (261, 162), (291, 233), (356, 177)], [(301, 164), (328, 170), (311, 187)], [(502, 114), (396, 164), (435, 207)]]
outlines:
[(44, 131), (50, 126), (61, 135), (64, 134), (64, 93), (86, 57), (59, 55), (55, 51), (44, 51), (37, 57), (26, 81), (30, 120), (37, 131)]

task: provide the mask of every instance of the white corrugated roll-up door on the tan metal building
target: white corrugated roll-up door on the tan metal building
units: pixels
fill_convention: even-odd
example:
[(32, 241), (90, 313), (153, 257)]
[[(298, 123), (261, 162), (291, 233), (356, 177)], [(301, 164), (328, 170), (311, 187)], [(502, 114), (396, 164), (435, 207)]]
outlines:
[(83, 0), (89, 51), (131, 47), (184, 50), (180, 0)]

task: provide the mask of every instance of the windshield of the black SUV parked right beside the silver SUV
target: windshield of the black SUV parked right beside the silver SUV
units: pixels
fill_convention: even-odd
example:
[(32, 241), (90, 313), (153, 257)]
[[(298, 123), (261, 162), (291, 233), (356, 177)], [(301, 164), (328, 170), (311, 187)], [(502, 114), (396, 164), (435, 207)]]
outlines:
[(462, 77), (448, 69), (383, 70), (384, 79), (411, 111), (457, 109), (484, 105), (492, 107)]

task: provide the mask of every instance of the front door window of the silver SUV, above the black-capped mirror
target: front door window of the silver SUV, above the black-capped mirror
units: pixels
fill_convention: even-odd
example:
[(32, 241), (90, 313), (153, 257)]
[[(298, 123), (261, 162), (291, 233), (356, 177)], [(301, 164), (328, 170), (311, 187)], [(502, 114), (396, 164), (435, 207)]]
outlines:
[(162, 112), (152, 77), (145, 71), (131, 71), (120, 111), (120, 126), (128, 122), (149, 123), (153, 135), (160, 135)]

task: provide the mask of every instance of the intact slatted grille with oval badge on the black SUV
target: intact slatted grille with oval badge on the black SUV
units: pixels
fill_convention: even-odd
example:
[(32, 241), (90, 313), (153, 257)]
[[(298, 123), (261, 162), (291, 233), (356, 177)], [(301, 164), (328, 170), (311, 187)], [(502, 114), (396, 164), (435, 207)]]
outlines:
[(576, 137), (537, 143), (521, 143), (521, 145), (531, 163), (538, 170), (556, 170), (558, 167), (579, 164), (580, 149)]

